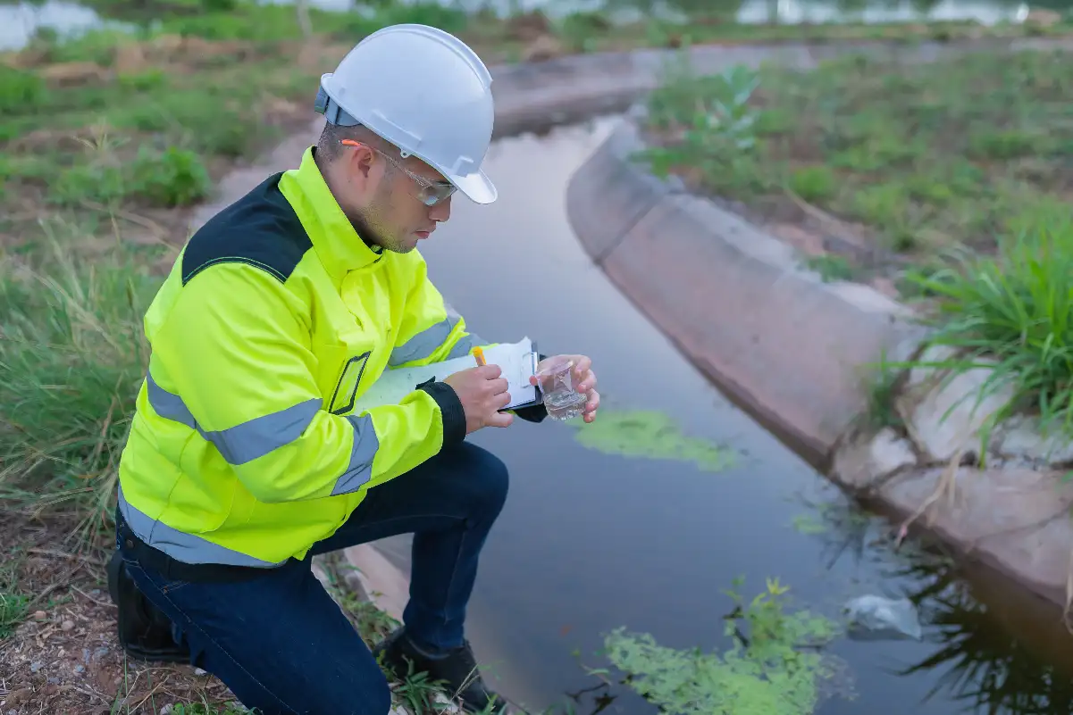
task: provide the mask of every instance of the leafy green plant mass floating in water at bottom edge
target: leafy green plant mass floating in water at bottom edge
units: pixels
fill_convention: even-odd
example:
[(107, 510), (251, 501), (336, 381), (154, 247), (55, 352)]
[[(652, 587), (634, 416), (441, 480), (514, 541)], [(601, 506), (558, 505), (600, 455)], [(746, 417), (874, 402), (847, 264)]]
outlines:
[(739, 593), (743, 585), (737, 579), (727, 592), (735, 610), (726, 620), (732, 645), (724, 652), (678, 651), (619, 628), (605, 639), (608, 659), (628, 674), (632, 688), (667, 713), (812, 713), (825, 684), (841, 674), (820, 651), (837, 632), (834, 622), (789, 611), (788, 589), (777, 579), (748, 602)]

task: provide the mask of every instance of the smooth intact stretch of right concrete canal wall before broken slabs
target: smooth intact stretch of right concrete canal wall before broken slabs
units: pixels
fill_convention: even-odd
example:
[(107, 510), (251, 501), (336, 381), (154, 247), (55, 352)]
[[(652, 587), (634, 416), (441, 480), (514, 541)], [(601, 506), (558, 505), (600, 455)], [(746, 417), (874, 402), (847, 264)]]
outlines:
[(824, 468), (866, 406), (857, 366), (905, 359), (923, 332), (852, 283), (824, 283), (793, 249), (649, 174), (622, 122), (572, 177), (567, 215), (616, 285), (795, 451)]

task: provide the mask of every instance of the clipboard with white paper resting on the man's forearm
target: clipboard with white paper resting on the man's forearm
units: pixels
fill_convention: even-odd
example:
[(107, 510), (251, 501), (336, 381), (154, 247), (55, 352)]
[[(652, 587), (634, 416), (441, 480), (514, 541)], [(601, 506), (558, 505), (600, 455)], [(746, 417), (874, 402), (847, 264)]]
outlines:
[[(529, 378), (536, 374), (540, 354), (536, 352), (536, 344), (528, 337), (516, 343), (499, 343), (486, 347), (484, 358), (488, 364), (498, 364), (502, 369), (503, 377), (509, 385), (511, 402), (501, 412), (532, 407), (543, 402), (544, 396), (540, 388), (529, 384)], [(353, 412), (356, 414), (383, 404), (398, 404), (422, 383), (442, 382), (449, 375), (475, 367), (476, 360), (473, 356), (465, 355), (415, 368), (385, 370), (355, 400)]]

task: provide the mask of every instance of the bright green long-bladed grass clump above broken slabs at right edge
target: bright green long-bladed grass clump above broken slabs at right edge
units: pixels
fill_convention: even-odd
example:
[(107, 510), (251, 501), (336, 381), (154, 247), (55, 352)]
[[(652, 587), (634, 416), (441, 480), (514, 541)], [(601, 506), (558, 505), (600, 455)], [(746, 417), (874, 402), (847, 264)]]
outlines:
[(1000, 240), (994, 257), (965, 252), (953, 266), (910, 272), (907, 281), (937, 300), (926, 319), (935, 329), (929, 342), (959, 353), (943, 367), (957, 374), (993, 358), (998, 368), (984, 391), (1015, 385), (1014, 399), (985, 432), (1028, 409), (1044, 430), (1073, 434), (1073, 222), (1064, 210), (1046, 211)]

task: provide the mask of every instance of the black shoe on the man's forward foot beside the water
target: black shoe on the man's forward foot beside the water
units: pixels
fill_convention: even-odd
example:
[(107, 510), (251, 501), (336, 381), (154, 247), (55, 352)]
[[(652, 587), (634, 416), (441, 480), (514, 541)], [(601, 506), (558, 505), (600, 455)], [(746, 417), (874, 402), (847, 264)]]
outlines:
[(483, 715), (505, 712), (506, 701), (484, 684), (468, 642), (445, 657), (430, 658), (414, 647), (403, 629), (398, 628), (372, 649), (372, 657), (398, 681), (411, 673), (427, 673), (428, 680), (439, 682), (446, 695), (459, 701), (466, 712)]

